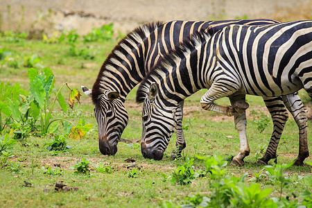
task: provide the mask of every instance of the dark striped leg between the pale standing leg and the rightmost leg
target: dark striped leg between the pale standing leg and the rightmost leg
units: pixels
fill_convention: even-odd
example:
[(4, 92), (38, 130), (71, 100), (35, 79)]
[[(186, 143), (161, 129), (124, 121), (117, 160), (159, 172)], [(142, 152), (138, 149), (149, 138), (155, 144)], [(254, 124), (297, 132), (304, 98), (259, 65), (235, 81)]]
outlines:
[(277, 158), (277, 146), (279, 145), (281, 133), (283, 132), (285, 123), (288, 119), (288, 113), (281, 97), (263, 97), (263, 101), (266, 103), (266, 107), (272, 117), (273, 132), (266, 153), (258, 160), (258, 165), (266, 165), (270, 159)]

